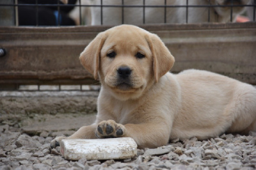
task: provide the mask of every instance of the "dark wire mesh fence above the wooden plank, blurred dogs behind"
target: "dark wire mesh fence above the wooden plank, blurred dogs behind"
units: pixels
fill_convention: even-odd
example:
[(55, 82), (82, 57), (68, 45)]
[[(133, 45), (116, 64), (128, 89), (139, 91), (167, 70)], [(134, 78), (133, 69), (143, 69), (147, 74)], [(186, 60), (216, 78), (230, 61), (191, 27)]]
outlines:
[(16, 26), (236, 22), (240, 15), (255, 21), (255, 6), (255, 0), (2, 0), (0, 16), (1, 25)]

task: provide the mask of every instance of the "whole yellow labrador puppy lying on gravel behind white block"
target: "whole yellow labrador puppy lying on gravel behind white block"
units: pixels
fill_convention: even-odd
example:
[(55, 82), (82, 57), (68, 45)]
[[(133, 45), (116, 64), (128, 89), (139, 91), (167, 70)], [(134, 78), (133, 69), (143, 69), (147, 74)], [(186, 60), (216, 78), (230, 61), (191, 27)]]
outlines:
[(156, 148), (178, 137), (256, 130), (253, 86), (201, 70), (168, 72), (172, 54), (157, 35), (140, 27), (99, 33), (79, 59), (95, 79), (99, 76), (102, 88), (95, 123), (68, 139), (132, 137), (139, 148)]

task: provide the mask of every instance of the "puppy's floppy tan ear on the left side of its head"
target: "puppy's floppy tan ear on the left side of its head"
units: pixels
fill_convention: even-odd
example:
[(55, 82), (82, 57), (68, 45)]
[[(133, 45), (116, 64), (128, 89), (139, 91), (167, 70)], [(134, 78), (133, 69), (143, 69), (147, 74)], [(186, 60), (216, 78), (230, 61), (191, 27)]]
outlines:
[(92, 42), (80, 54), (81, 64), (88, 72), (92, 73), (94, 79), (98, 77), (100, 50), (106, 40), (106, 33), (102, 32), (97, 35)]

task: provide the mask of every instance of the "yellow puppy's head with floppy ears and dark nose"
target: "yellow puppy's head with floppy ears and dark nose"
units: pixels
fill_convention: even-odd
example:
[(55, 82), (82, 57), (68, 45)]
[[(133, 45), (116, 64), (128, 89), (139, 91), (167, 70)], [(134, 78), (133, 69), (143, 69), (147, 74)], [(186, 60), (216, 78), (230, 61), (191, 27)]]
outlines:
[(79, 59), (120, 100), (140, 97), (174, 63), (157, 35), (129, 25), (99, 33)]

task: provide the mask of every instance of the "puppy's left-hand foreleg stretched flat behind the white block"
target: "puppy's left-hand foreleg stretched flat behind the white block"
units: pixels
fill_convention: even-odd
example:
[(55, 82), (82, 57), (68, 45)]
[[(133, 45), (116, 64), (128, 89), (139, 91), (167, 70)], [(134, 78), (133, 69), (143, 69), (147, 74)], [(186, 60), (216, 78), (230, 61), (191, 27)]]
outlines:
[(56, 148), (56, 146), (60, 146), (60, 141), (62, 139), (96, 139), (95, 130), (97, 125), (84, 126), (79, 128), (74, 134), (69, 137), (59, 136), (51, 141), (51, 148)]

